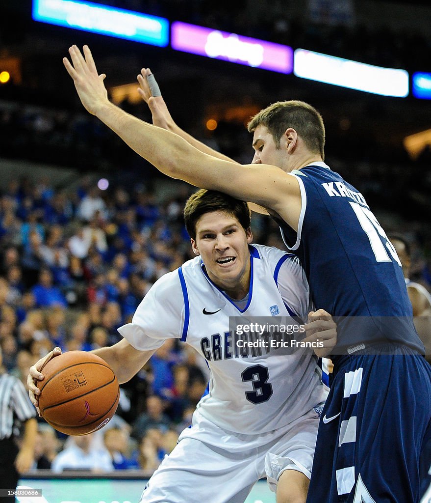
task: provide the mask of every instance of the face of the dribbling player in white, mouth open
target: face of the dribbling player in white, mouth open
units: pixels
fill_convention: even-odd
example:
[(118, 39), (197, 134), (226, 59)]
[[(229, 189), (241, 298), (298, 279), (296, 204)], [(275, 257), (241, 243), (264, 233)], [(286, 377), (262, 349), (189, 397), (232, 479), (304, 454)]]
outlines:
[(249, 291), (248, 244), (252, 239), (251, 229), (244, 230), (237, 218), (225, 211), (202, 215), (196, 223), (196, 240), (191, 239), (211, 281), (236, 299)]

